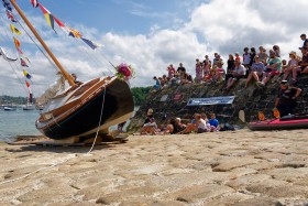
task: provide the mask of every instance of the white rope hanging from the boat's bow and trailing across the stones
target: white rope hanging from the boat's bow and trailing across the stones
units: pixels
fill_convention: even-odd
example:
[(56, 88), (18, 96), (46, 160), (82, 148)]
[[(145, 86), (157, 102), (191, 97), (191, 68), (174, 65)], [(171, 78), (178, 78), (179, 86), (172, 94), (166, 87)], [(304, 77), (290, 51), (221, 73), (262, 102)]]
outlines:
[[(98, 133), (99, 133), (100, 123), (101, 123), (101, 117), (102, 117), (102, 112), (103, 112), (103, 109), (105, 109), (105, 97), (106, 97), (106, 85), (103, 85), (103, 96), (102, 96), (102, 102), (101, 102), (101, 111), (100, 111), (99, 124), (98, 124), (98, 128), (97, 128), (96, 137), (95, 137), (94, 143), (92, 143), (90, 150), (89, 150), (87, 153), (85, 153), (84, 155), (90, 154), (90, 152), (92, 151), (92, 149), (94, 149), (94, 147), (95, 147), (95, 144), (96, 144), (96, 141), (97, 141), (97, 138), (98, 138)], [(75, 158), (78, 158), (78, 155), (77, 155), (77, 154), (68, 154), (66, 158), (62, 159), (62, 160), (61, 160), (59, 162), (57, 162), (57, 163), (54, 163), (54, 164), (52, 164), (52, 165), (50, 165), (50, 166), (44, 166), (44, 167), (37, 169), (36, 171), (33, 171), (33, 172), (31, 172), (31, 173), (29, 173), (29, 174), (25, 174), (25, 175), (23, 175), (23, 176), (20, 176), (20, 177), (18, 177), (18, 178), (13, 178), (13, 180), (8, 180), (8, 181), (0, 182), (0, 185), (3, 185), (3, 184), (7, 184), (7, 183), (12, 183), (12, 182), (16, 182), (16, 181), (26, 178), (28, 176), (30, 176), (30, 175), (32, 175), (32, 174), (35, 174), (35, 173), (37, 173), (37, 172), (40, 172), (40, 171), (43, 171), (43, 170), (52, 169), (52, 167), (54, 167), (54, 166), (58, 166), (58, 165), (61, 165), (61, 164), (63, 164), (63, 163), (65, 163), (65, 162), (72, 160), (72, 159), (75, 159)]]

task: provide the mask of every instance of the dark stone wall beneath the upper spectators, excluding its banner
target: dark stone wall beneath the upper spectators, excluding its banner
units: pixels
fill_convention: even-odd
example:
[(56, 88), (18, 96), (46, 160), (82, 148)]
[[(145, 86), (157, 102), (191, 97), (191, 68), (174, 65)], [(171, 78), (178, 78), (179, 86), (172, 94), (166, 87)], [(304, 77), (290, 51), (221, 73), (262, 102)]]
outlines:
[[(182, 119), (191, 119), (195, 112), (217, 113), (220, 123), (231, 123), (244, 126), (239, 119), (239, 111), (245, 111), (246, 121), (256, 120), (256, 113), (263, 111), (267, 118), (272, 118), (275, 98), (278, 94), (280, 77), (274, 77), (265, 87), (257, 87), (251, 84), (244, 88), (245, 79), (235, 83), (229, 90), (224, 90), (223, 83), (216, 84), (190, 84), (178, 85), (163, 88), (157, 91), (151, 91), (146, 97), (145, 104), (140, 107), (132, 118), (129, 131), (138, 131), (142, 126), (148, 108), (153, 108), (154, 118), (157, 124), (165, 123), (167, 119), (180, 117)], [(297, 87), (302, 89), (301, 95), (297, 98), (297, 108), (295, 112), (308, 112), (308, 76), (299, 78)], [(162, 97), (167, 95), (165, 101)], [(175, 97), (180, 98), (178, 100)], [(213, 106), (187, 106), (189, 98), (208, 98), (221, 96), (235, 96), (232, 105), (213, 105)]]

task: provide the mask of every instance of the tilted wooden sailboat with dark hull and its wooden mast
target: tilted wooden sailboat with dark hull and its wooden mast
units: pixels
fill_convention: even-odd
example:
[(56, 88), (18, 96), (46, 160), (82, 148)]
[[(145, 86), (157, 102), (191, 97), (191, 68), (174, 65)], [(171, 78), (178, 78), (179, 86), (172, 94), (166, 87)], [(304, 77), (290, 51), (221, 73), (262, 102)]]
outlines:
[(96, 132), (108, 132), (110, 126), (123, 122), (132, 116), (133, 98), (124, 80), (116, 76), (105, 76), (75, 84), (16, 2), (14, 0), (10, 2), (57, 65), (62, 78), (70, 85), (66, 90), (52, 95), (53, 97), (47, 95), (44, 106), (38, 104), (44, 109), (35, 126), (43, 134), (55, 140), (90, 137)]

